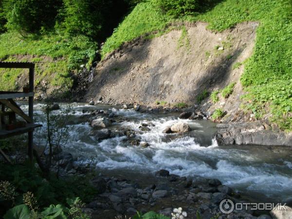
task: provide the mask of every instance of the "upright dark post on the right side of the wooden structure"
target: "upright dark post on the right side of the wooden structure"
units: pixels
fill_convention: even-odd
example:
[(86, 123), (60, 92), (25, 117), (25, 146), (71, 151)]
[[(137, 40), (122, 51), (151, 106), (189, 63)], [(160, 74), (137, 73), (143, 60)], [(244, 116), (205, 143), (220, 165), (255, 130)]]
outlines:
[[(34, 92), (34, 71), (35, 67), (29, 68), (29, 91)], [(32, 123), (34, 123), (34, 97), (28, 97), (28, 116), (31, 118)], [(28, 132), (28, 156), (33, 162), (34, 159), (34, 131)]]

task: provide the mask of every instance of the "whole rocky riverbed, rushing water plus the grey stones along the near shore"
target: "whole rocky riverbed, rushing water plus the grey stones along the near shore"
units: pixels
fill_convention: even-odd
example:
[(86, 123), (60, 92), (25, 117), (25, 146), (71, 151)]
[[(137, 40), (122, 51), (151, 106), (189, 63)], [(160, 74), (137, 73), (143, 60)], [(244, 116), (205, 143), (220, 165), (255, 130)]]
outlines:
[[(22, 106), (24, 110), (26, 107)], [(35, 118), (46, 128), (41, 107), (35, 105)], [(60, 110), (56, 108), (53, 113), (64, 108), (60, 105)], [(273, 125), (261, 128), (261, 121), (240, 128), (237, 124), (212, 123), (209, 117), (194, 109), (182, 112), (138, 105), (73, 103), (67, 124), (70, 136), (55, 162), (59, 161), (62, 176), (86, 174), (92, 168), (100, 173), (91, 182), (100, 186), (100, 194), (86, 206), (99, 218), (131, 216), (135, 210), (169, 215), (174, 207), (183, 207), (189, 218), (195, 218), (197, 211), (203, 218), (224, 218), (219, 212), (219, 199), (289, 199), (291, 148), (275, 142), (256, 146), (254, 137), (253, 141), (245, 137), (240, 143), (241, 138), (235, 137), (247, 130), (258, 135), (266, 130), (277, 133)], [(36, 131), (35, 138), (39, 146), (45, 144), (42, 130)], [(159, 169), (165, 174), (156, 174)], [(228, 217), (255, 218), (269, 212), (235, 214)]]

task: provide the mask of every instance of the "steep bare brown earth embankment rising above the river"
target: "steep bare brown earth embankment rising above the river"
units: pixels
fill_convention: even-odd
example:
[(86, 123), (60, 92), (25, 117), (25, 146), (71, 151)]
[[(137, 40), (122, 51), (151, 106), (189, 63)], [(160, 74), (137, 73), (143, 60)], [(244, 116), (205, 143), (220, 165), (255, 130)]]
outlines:
[(257, 23), (241, 23), (221, 33), (206, 26), (197, 22), (172, 27), (160, 37), (125, 44), (98, 64), (87, 98), (192, 106), (205, 91), (221, 90), (235, 82), (235, 92), (219, 101), (220, 107), (233, 113), (242, 93), (243, 65), (239, 63), (252, 55)]

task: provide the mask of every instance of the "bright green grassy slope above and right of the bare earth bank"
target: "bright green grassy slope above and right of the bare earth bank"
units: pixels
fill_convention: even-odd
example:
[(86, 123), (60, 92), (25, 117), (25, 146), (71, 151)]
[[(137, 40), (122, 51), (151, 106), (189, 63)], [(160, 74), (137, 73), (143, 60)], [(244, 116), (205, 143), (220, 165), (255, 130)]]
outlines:
[[(245, 110), (257, 118), (268, 112), (280, 128), (292, 129), (292, 1), (291, 0), (224, 0), (211, 10), (185, 21), (205, 21), (208, 28), (223, 31), (243, 21), (259, 21), (254, 55), (245, 62), (241, 78), (248, 94), (243, 96)], [(103, 57), (123, 42), (147, 32), (161, 30), (174, 19), (166, 17), (155, 3), (138, 4), (107, 39)], [(146, 25), (144, 25), (146, 24)]]

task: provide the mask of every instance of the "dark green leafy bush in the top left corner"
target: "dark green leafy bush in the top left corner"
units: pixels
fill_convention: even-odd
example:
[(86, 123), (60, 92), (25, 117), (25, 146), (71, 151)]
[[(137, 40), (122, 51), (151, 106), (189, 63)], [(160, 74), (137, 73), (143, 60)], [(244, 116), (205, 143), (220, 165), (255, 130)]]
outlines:
[(62, 0), (3, 0), (6, 25), (21, 34), (52, 28), (61, 5)]

